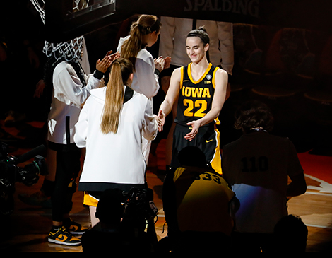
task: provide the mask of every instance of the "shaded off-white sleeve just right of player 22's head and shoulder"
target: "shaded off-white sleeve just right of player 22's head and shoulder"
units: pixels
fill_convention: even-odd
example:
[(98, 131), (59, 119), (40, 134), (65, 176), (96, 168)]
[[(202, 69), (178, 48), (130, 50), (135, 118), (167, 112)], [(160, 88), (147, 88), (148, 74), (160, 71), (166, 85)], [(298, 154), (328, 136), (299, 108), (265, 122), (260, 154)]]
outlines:
[(220, 42), (221, 66), (232, 75), (234, 66), (233, 24), (218, 22), (218, 38)]

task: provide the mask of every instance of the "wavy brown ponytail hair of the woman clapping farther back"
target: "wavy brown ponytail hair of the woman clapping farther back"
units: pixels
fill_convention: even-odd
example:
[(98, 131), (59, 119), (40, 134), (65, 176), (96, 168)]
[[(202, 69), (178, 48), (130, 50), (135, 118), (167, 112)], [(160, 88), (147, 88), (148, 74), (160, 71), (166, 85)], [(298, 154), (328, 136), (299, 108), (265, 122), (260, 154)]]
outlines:
[(135, 65), (138, 52), (146, 47), (143, 44), (143, 35), (154, 31), (159, 33), (161, 28), (160, 19), (157, 16), (143, 14), (131, 25), (130, 37), (121, 47), (121, 57), (129, 59)]

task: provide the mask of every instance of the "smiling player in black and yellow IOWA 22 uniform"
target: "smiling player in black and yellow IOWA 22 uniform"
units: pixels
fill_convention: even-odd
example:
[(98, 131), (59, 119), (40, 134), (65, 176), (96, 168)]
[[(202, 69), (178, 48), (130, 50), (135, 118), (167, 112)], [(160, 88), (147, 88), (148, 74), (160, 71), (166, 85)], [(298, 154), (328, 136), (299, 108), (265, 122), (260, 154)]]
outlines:
[(177, 153), (185, 146), (197, 146), (208, 163), (221, 174), (220, 134), (215, 125), (225, 102), (227, 72), (208, 62), (210, 39), (204, 28), (191, 30), (186, 37), (186, 53), (191, 63), (174, 70), (170, 88), (160, 105), (161, 120), (171, 112), (178, 98), (177, 117), (173, 136), (171, 167), (178, 167)]

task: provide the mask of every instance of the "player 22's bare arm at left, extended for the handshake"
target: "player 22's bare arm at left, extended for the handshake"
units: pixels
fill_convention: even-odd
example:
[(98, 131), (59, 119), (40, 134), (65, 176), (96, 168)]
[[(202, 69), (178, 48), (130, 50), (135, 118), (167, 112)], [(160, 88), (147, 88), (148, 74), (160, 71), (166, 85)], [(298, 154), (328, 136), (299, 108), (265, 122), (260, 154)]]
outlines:
[[(173, 71), (170, 79), (170, 88), (167, 90), (165, 100), (161, 103), (158, 117), (161, 120), (162, 126), (165, 124), (165, 117), (170, 114), (174, 101), (179, 95), (181, 81), (181, 68), (177, 68)], [(159, 128), (159, 131), (162, 131), (162, 126)]]

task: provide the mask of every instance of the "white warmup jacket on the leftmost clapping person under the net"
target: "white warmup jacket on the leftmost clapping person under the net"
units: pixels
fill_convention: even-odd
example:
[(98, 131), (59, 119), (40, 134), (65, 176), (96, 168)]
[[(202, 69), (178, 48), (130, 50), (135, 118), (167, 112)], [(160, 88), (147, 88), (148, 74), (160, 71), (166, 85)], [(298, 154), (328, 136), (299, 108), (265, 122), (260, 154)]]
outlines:
[[(53, 98), (48, 117), (47, 139), (54, 143), (66, 144), (66, 117), (69, 117), (69, 143), (73, 143), (75, 124), (85, 100), (92, 88), (102, 85), (93, 74), (85, 75), (87, 85), (82, 86), (75, 69), (66, 61), (59, 63), (53, 72)], [(67, 121), (68, 121), (67, 120)]]

